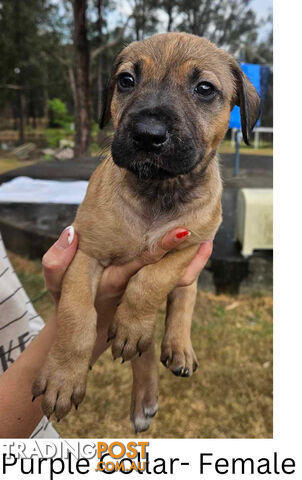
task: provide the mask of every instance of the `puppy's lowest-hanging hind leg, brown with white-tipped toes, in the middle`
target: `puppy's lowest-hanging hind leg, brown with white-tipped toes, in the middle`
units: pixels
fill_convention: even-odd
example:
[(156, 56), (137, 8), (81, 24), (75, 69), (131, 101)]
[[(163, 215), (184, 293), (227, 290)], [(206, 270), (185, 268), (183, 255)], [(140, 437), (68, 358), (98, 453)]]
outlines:
[(135, 433), (144, 432), (158, 409), (157, 368), (153, 343), (131, 362), (133, 385), (130, 420)]

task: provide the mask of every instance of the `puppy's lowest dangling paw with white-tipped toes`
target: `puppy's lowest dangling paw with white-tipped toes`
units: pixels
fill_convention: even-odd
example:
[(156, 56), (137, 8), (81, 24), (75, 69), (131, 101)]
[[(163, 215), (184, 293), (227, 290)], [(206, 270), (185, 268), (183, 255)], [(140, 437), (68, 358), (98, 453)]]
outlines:
[(158, 410), (156, 387), (146, 385), (134, 387), (132, 391), (130, 421), (134, 433), (145, 432), (150, 427)]

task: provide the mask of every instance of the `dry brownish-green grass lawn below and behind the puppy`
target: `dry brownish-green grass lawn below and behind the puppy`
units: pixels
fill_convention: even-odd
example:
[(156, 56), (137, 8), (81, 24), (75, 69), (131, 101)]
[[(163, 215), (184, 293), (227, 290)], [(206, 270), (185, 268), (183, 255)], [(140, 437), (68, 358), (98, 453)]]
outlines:
[[(9, 253), (31, 298), (44, 289), (40, 262)], [(48, 294), (35, 307), (47, 321)], [(157, 355), (164, 308), (157, 323)], [(175, 377), (159, 362), (159, 412), (142, 438), (271, 438), (273, 435), (272, 298), (261, 292), (232, 297), (198, 292), (192, 339), (199, 368)], [(89, 374), (77, 412), (55, 424), (62, 437), (131, 438), (131, 368), (112, 361), (109, 351)]]

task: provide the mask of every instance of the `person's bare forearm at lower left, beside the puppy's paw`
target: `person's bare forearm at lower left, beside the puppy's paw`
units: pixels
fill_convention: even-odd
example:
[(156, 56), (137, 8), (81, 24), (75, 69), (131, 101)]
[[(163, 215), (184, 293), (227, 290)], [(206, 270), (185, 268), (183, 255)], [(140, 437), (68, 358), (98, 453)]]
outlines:
[(41, 399), (32, 402), (31, 386), (46, 359), (55, 330), (52, 319), (0, 377), (0, 438), (29, 437), (41, 420)]

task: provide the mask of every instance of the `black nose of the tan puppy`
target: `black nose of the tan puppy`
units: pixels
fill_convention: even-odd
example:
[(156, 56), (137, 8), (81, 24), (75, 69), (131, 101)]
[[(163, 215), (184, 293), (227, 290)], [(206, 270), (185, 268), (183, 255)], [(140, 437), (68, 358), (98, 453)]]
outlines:
[(164, 123), (153, 117), (138, 120), (133, 126), (133, 140), (142, 147), (160, 148), (167, 141)]

